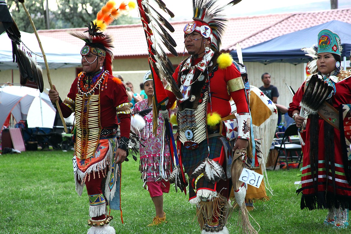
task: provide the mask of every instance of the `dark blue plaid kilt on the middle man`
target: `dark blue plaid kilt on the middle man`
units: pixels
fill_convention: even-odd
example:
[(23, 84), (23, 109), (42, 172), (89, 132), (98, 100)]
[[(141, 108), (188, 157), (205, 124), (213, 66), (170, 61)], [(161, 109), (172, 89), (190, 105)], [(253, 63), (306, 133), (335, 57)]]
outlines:
[[(199, 189), (208, 189), (211, 191), (217, 191), (222, 196), (228, 198), (228, 191), (231, 180), (220, 180), (219, 182), (211, 183), (205, 179), (204, 176), (201, 178), (192, 178), (191, 174), (199, 166), (199, 164), (204, 161), (207, 156), (208, 158), (217, 161), (223, 166), (226, 172), (225, 163), (225, 151), (220, 137), (212, 137), (208, 139), (208, 146), (210, 147), (210, 155), (208, 155), (207, 141), (202, 141), (199, 143), (196, 149), (186, 149), (181, 147), (181, 161), (183, 162), (184, 170), (189, 176), (189, 200), (196, 197), (196, 193)], [(226, 188), (226, 189), (223, 189)]]

